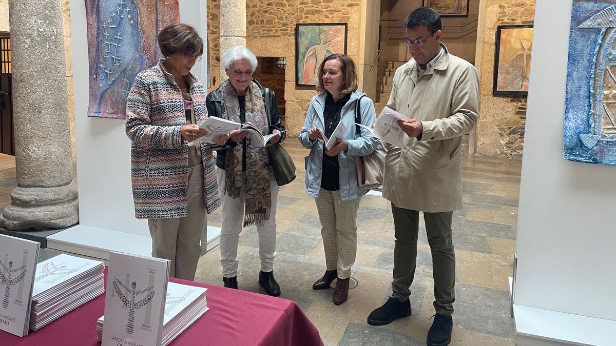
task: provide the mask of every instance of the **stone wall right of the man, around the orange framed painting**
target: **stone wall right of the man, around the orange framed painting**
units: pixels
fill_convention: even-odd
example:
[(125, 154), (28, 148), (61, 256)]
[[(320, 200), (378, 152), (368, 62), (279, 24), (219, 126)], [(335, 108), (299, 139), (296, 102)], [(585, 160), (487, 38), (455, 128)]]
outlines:
[(495, 39), (498, 25), (533, 24), (535, 0), (482, 0), (477, 35), (479, 123), (474, 151), (479, 155), (521, 158), (524, 148), (526, 99), (493, 95)]

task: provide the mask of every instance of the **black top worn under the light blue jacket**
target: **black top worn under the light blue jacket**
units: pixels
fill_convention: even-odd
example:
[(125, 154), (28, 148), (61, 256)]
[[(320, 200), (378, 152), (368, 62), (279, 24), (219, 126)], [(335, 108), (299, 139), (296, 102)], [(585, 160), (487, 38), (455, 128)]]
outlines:
[[(351, 94), (338, 99), (334, 102), (334, 98), (328, 92), (325, 98), (325, 110), (323, 110), (323, 119), (325, 120), (325, 136), (330, 138), (331, 134), (340, 122), (340, 111), (351, 99)], [(323, 169), (321, 174), (321, 188), (328, 191), (340, 190), (340, 164), (338, 163), (338, 155), (329, 156), (325, 153), (327, 148), (323, 146)]]

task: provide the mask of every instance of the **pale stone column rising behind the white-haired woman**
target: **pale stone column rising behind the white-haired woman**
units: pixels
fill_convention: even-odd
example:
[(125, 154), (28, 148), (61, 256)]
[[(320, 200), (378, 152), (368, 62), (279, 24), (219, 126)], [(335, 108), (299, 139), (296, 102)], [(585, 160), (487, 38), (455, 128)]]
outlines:
[(229, 78), (222, 65), (222, 54), (238, 44), (246, 46), (246, 0), (221, 0), (221, 83)]

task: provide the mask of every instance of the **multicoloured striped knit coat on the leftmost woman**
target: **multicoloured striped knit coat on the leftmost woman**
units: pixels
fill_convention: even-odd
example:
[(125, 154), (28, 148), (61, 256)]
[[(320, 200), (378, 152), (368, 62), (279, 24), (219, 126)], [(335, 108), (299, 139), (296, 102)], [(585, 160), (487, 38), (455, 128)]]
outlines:
[[(195, 119), (208, 118), (206, 92), (192, 73), (187, 76)], [(126, 135), (132, 140), (132, 196), (137, 219), (169, 219), (187, 215), (188, 142), (184, 99), (173, 75), (158, 65), (137, 74), (126, 102)], [(220, 206), (216, 164), (211, 145), (201, 147), (203, 192), (208, 214)]]

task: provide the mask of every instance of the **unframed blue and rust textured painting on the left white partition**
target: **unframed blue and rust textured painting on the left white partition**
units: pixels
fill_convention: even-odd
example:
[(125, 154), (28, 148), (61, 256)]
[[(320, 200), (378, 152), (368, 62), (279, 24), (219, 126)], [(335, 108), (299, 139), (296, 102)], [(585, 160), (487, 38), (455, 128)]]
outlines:
[(126, 119), (135, 76), (162, 58), (158, 31), (179, 22), (177, 0), (85, 0), (90, 100), (87, 116)]

